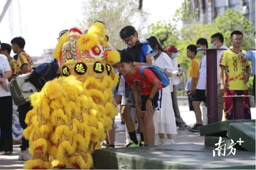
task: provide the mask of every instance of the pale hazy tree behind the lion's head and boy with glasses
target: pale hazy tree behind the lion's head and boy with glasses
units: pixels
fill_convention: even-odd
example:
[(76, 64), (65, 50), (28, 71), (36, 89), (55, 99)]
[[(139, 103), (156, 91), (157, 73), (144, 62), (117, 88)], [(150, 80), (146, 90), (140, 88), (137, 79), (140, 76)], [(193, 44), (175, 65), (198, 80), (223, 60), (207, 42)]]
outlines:
[(83, 2), (84, 19), (80, 27), (84, 30), (96, 20), (106, 24), (106, 33), (110, 43), (115, 49), (124, 49), (125, 45), (120, 39), (119, 31), (127, 25), (139, 25), (136, 29), (140, 35), (146, 26), (148, 13), (138, 11), (137, 0), (87, 0)]

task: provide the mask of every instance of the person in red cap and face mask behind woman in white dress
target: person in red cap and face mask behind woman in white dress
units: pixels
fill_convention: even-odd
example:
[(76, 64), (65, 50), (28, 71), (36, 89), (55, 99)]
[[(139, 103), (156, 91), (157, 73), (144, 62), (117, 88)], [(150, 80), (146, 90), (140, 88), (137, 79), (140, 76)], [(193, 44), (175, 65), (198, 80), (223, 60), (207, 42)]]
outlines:
[(171, 82), (173, 84), (173, 92), (171, 93), (172, 94), (172, 106), (174, 109), (176, 125), (177, 125), (177, 127), (179, 127), (179, 130), (183, 130), (183, 129), (190, 128), (190, 126), (186, 125), (186, 123), (183, 121), (182, 117), (180, 116), (180, 110), (179, 110), (178, 101), (177, 101), (176, 85), (178, 85), (180, 83), (179, 76), (182, 75), (179, 73), (178, 70), (176, 70), (178, 68), (178, 61), (176, 60), (178, 52), (179, 52), (179, 50), (176, 49), (176, 47), (173, 45), (167, 47), (167, 49), (166, 49), (166, 54), (171, 59), (172, 67), (175, 68), (174, 72), (172, 72), (173, 75), (171, 78)]

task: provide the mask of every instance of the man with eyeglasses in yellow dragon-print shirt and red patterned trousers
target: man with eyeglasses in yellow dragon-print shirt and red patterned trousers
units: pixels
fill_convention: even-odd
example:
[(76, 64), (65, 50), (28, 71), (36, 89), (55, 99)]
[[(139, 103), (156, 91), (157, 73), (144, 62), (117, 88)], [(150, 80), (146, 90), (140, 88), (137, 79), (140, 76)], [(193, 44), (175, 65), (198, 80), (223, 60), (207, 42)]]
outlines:
[[(233, 47), (224, 51), (220, 59), (220, 90), (225, 92), (225, 96), (248, 96), (247, 82), (250, 76), (250, 61), (241, 61), (238, 53), (246, 51), (242, 50), (243, 33), (241, 31), (233, 31), (231, 33), (231, 43)], [(224, 83), (224, 69), (228, 66), (229, 88)], [(252, 119), (250, 111), (250, 101), (248, 97), (244, 97), (244, 119)], [(224, 116), (225, 120), (233, 120), (233, 99), (224, 98)]]

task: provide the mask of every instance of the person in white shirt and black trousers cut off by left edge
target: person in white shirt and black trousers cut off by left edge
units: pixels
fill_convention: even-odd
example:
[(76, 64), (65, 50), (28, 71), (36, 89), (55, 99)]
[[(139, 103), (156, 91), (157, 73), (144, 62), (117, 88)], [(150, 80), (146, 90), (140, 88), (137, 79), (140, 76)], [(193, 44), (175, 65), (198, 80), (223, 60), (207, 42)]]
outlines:
[(12, 154), (12, 96), (8, 88), (8, 78), (12, 71), (5, 55), (0, 54), (0, 151)]

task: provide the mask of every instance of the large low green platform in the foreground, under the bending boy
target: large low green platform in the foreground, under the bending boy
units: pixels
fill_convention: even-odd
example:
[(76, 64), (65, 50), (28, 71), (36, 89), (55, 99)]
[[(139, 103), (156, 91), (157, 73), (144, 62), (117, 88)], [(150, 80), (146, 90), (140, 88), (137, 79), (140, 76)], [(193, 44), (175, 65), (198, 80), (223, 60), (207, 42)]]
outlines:
[(96, 170), (256, 170), (255, 152), (236, 150), (212, 156), (216, 149), (194, 144), (95, 150)]

